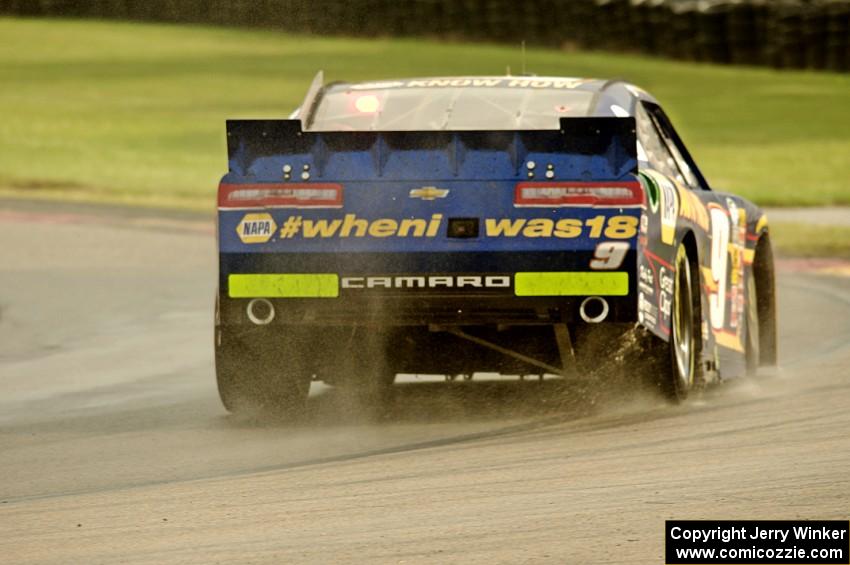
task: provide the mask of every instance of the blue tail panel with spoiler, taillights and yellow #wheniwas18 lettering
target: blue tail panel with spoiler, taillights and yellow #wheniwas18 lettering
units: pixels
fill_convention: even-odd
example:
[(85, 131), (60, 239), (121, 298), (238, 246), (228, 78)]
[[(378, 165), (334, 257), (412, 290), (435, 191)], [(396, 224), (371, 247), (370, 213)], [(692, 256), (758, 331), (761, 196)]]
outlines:
[[(607, 226), (596, 233), (557, 221), (641, 203), (634, 120), (560, 123), (556, 131), (320, 133), (298, 120), (230, 121), (221, 251), (586, 248)], [(453, 218), (477, 220), (478, 236), (449, 237)]]

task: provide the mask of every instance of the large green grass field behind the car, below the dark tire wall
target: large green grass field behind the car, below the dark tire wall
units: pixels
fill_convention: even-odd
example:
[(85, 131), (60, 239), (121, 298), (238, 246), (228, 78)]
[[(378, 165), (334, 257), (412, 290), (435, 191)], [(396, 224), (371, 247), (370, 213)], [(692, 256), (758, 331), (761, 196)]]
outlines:
[[(284, 117), (328, 79), (501, 74), (519, 48), (0, 19), (0, 187), (210, 206), (226, 118)], [(664, 104), (716, 188), (850, 204), (850, 75), (530, 50), (538, 74), (623, 77)]]

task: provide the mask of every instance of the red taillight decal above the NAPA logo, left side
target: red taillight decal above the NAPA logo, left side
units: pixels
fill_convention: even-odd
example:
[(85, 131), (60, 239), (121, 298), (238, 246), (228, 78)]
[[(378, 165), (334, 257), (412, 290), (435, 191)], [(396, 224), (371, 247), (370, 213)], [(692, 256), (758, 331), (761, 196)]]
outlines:
[(336, 183), (221, 183), (219, 208), (342, 208), (342, 185)]

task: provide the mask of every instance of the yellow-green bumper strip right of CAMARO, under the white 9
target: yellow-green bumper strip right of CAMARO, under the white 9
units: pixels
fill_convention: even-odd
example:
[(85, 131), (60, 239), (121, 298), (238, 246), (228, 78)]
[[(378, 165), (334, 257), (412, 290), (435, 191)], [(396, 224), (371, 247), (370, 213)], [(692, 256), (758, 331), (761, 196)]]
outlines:
[(514, 292), (517, 296), (625, 296), (629, 293), (629, 274), (517, 273)]

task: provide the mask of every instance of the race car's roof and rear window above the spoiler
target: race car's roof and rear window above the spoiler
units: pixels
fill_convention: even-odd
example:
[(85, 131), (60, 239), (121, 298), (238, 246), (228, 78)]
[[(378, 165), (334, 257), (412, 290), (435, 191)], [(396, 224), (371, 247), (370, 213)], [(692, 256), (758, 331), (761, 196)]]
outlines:
[(549, 130), (560, 118), (633, 116), (637, 100), (654, 102), (619, 80), (476, 76), (336, 82), (302, 107), (310, 131)]

